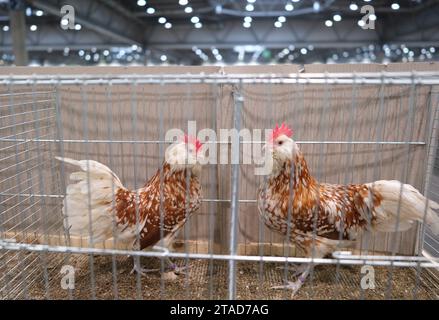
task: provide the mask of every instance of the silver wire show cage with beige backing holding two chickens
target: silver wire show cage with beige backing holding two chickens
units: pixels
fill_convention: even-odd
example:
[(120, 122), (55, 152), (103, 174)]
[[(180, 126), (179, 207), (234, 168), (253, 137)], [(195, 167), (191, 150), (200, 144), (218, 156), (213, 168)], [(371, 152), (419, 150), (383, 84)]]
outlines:
[[(271, 287), (292, 275), (279, 267), (302, 262), (316, 267), (296, 298), (439, 298), (439, 239), (420, 224), (366, 233), (350, 255), (297, 256), (259, 219), (264, 178), (254, 163), (203, 166), (201, 207), (169, 251), (69, 235), (62, 200), (72, 168), (56, 156), (99, 161), (137, 189), (161, 166), (167, 130), (189, 121), (216, 132), (286, 122), (319, 181), (396, 179), (439, 200), (439, 72), (176, 70), (1, 76), (0, 298), (283, 299), (290, 293)], [(263, 140), (209, 143), (227, 158)], [(189, 268), (177, 279), (131, 274), (130, 256)], [(374, 289), (360, 285), (364, 265), (374, 267)], [(74, 288), (63, 289), (66, 266)]]

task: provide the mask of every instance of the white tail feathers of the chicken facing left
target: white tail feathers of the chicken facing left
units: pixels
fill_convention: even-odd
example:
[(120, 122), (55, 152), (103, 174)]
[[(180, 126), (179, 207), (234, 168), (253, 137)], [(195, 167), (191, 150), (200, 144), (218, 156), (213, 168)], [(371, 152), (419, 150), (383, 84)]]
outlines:
[(439, 234), (439, 216), (434, 211), (439, 209), (439, 204), (424, 197), (416, 188), (396, 180), (375, 181), (368, 186), (382, 197), (380, 205), (375, 207), (377, 231), (396, 231), (398, 214), (398, 231), (408, 230), (415, 221), (422, 222), (426, 215), (427, 225), (434, 234)]

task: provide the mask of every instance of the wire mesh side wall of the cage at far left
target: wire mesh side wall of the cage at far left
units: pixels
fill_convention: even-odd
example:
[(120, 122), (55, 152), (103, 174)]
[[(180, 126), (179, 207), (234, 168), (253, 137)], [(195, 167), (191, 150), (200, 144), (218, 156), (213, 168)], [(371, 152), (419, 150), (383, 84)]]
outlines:
[[(62, 219), (59, 202), (41, 196), (61, 191), (54, 169), (58, 148), (52, 143), (57, 138), (55, 89), (11, 82), (2, 85), (0, 100), (0, 233), (5, 241), (39, 243), (59, 232)], [(25, 293), (43, 271), (44, 261), (29, 252), (4, 250), (1, 261), (0, 293), (6, 298)]]

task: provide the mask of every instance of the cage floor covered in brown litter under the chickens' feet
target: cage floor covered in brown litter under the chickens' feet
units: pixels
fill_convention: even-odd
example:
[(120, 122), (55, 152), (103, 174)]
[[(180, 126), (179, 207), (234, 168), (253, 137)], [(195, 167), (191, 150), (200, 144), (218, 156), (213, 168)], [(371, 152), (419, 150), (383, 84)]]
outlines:
[[(28, 255), (36, 255), (28, 253)], [(95, 292), (97, 299), (226, 299), (228, 293), (227, 262), (211, 262), (206, 260), (189, 260), (186, 275), (176, 280), (162, 280), (159, 273), (149, 273), (137, 281), (135, 274), (130, 274), (132, 259), (117, 257), (116, 279), (113, 277), (113, 260), (111, 256), (94, 256), (94, 274), (90, 269), (90, 258), (87, 255), (44, 254), (38, 257), (38, 266), (47, 261), (47, 280), (42, 269), (36, 277), (16, 277), (10, 275), (16, 283), (8, 283), (3, 298), (15, 298), (8, 295), (8, 287), (22, 286), (23, 294), (17, 297), (29, 299), (91, 299)], [(21, 257), (20, 259), (22, 259)], [(9, 259), (11, 266), (18, 263), (19, 257)], [(44, 260), (43, 260), (44, 259)], [(14, 264), (15, 263), (15, 264)], [(61, 288), (61, 266), (70, 264), (75, 267), (75, 289), (69, 292)], [(184, 265), (185, 260), (178, 260)], [(283, 264), (282, 264), (283, 265)], [(142, 266), (157, 268), (159, 259), (142, 259)], [(279, 264), (273, 263), (238, 263), (237, 299), (290, 299), (287, 290), (275, 290), (272, 286), (282, 284), (284, 271)], [(11, 267), (5, 266), (12, 270)], [(360, 288), (360, 266), (340, 266), (339, 277), (336, 278), (335, 265), (316, 266), (313, 278), (308, 278), (294, 299), (439, 299), (439, 278), (436, 274), (423, 269), (419, 281), (413, 268), (375, 267), (375, 289)], [(21, 268), (19, 268), (21, 269)], [(18, 271), (17, 271), (18, 272)], [(436, 271), (434, 271), (436, 272)], [(92, 277), (94, 277), (95, 287)], [(15, 279), (14, 279), (15, 278)], [(23, 286), (23, 280), (34, 281)], [(294, 280), (292, 272), (289, 280)], [(116, 283), (117, 290), (114, 286)], [(417, 283), (417, 285), (416, 285)], [(390, 289), (389, 289), (390, 284)], [(416, 295), (414, 296), (414, 289)]]

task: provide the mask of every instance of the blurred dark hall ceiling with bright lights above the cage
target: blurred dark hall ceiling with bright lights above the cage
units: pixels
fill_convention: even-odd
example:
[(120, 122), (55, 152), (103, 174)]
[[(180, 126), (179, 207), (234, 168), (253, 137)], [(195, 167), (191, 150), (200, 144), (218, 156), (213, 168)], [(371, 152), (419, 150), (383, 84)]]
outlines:
[(439, 60), (439, 0), (0, 0), (0, 65)]

